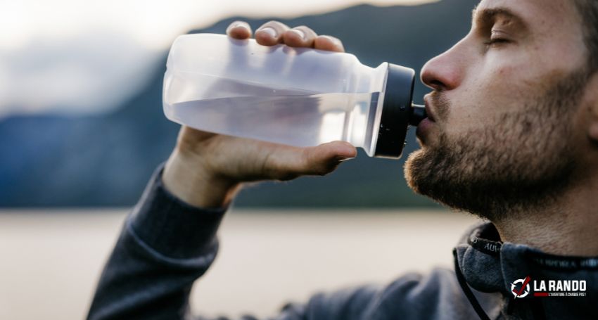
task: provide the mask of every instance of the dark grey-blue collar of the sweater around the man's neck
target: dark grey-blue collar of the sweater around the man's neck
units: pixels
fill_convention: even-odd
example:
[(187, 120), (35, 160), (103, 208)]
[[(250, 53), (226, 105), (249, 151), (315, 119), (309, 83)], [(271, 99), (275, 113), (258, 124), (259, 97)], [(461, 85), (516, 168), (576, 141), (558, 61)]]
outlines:
[[(559, 313), (559, 310), (577, 308), (580, 314), (592, 314), (598, 319), (598, 308), (595, 307), (598, 305), (598, 257), (550, 255), (527, 245), (502, 242), (497, 229), (490, 222), (469, 229), (455, 250), (457, 263), (471, 288), (483, 293), (500, 292), (511, 301), (540, 300), (544, 309), (550, 309), (549, 312)], [(514, 299), (512, 284), (528, 276), (530, 293), (521, 299)], [(535, 290), (534, 281), (538, 285), (544, 281), (547, 288)], [(585, 281), (585, 296), (536, 296), (535, 292), (566, 291), (549, 290), (549, 281)]]

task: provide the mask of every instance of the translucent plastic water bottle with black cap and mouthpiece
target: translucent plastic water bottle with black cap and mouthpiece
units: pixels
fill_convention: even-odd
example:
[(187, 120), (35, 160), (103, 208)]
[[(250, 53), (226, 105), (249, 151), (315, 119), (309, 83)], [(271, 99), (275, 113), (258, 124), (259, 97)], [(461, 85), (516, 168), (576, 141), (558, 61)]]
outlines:
[(163, 108), (169, 120), (207, 132), (299, 147), (342, 140), (400, 158), (408, 125), (426, 117), (412, 104), (414, 75), (390, 63), (370, 68), (350, 53), (185, 34), (168, 54)]

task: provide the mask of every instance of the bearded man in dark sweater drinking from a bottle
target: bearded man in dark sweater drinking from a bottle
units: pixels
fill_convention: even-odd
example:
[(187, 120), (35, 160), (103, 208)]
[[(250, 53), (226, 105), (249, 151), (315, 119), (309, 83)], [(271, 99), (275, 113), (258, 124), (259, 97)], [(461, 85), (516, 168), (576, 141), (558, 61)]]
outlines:
[[(471, 32), (421, 72), (433, 91), (405, 174), (417, 193), (490, 222), (465, 234), (454, 271), (314, 295), (276, 319), (598, 319), (597, 25), (594, 0), (481, 1)], [(255, 37), (343, 51), (274, 21)], [(89, 319), (185, 318), (243, 182), (326, 174), (355, 154), (338, 141), (293, 148), (182, 128), (127, 219)]]

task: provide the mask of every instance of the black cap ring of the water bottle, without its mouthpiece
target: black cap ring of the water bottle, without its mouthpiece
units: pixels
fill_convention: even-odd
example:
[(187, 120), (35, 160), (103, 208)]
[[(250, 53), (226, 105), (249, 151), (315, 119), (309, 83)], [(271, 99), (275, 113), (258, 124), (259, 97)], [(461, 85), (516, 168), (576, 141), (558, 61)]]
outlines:
[(401, 158), (412, 113), (415, 71), (388, 63), (378, 142), (374, 157)]

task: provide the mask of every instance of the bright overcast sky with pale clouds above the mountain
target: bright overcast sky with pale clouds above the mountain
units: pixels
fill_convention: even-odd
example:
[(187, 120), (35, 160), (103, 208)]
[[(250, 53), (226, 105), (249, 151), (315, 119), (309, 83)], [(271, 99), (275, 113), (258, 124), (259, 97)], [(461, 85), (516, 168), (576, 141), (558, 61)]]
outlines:
[(434, 0), (0, 0), (0, 118), (97, 113), (142, 87), (177, 34), (231, 15), (291, 18)]

